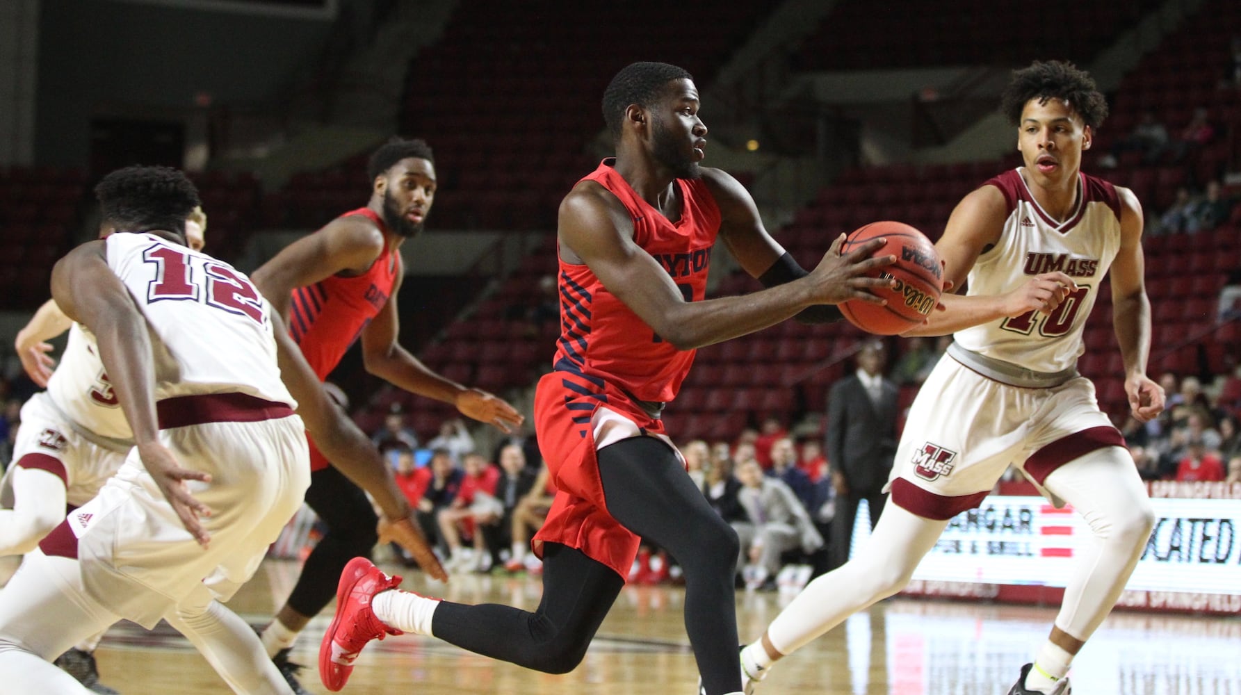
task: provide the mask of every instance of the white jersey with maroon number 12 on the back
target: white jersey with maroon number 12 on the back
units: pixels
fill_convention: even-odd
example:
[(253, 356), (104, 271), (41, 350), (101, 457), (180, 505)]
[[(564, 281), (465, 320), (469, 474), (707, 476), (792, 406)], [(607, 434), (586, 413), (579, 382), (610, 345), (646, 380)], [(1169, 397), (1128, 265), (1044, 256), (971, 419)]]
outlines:
[(271, 305), (244, 273), (155, 235), (105, 242), (151, 329), (156, 400), (241, 392), (297, 407), (280, 381)]

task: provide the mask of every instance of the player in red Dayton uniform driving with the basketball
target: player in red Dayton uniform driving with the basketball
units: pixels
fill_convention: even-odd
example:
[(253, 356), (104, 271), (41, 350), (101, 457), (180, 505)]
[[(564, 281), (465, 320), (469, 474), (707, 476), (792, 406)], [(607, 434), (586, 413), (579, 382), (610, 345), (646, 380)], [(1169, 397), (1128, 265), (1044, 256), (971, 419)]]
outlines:
[[(639, 536), (685, 570), (685, 624), (702, 691), (741, 690), (737, 535), (690, 480), (660, 411), (676, 396), (695, 348), (798, 314), (833, 320), (839, 310), (824, 305), (846, 299), (880, 302), (867, 289), (890, 280), (864, 273), (895, 257), (869, 258), (882, 240), (841, 256), (841, 236), (807, 273), (768, 236), (732, 176), (699, 166), (707, 130), (697, 110), (697, 88), (684, 70), (622, 70), (603, 96), (617, 156), (560, 206), (563, 330), (555, 371), (535, 397), (539, 447), (557, 488), (535, 536), (544, 557), (539, 608), (387, 591), (400, 580), (354, 560), (320, 645), (319, 673), (330, 690), (345, 684), (369, 639), (398, 630), (547, 673), (572, 670), (624, 586)], [(768, 289), (704, 300), (717, 237)]]

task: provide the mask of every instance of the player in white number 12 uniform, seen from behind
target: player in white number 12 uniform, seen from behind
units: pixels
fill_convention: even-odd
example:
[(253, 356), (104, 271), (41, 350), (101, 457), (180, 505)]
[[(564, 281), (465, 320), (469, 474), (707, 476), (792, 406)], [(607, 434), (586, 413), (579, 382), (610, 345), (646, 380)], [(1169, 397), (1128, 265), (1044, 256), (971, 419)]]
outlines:
[(137, 446), (0, 593), (0, 674), (19, 693), (82, 693), (42, 659), (120, 618), (164, 617), (235, 691), (288, 694), (258, 635), (215, 598), (300, 504), (307, 428), (341, 460), (379, 457), (249, 280), (184, 246), (197, 194), (181, 173), (129, 168), (97, 194), (103, 226), (122, 232), (62, 259), (53, 299), (96, 338)]

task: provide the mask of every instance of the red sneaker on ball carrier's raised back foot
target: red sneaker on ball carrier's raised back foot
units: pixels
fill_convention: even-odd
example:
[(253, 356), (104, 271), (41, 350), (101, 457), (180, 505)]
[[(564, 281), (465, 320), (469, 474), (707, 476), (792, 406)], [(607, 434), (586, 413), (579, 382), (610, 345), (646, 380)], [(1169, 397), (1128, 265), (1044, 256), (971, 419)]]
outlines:
[(401, 577), (387, 576), (365, 557), (345, 565), (336, 586), (336, 616), (319, 643), (319, 679), (333, 693), (340, 690), (354, 673), (354, 660), (372, 639), (401, 634), (380, 622), (371, 611), (375, 594), (401, 585)]

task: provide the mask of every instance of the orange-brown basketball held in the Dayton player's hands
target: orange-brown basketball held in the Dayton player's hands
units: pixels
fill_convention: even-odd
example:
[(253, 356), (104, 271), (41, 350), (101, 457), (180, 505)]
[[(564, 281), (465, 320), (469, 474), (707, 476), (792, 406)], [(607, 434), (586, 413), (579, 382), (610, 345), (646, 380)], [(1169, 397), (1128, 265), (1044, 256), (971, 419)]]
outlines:
[(875, 256), (896, 256), (896, 263), (879, 268), (871, 276), (896, 278), (896, 287), (874, 290), (887, 299), (887, 304), (850, 299), (840, 304), (840, 313), (866, 333), (896, 335), (921, 324), (934, 310), (943, 292), (943, 268), (931, 240), (903, 222), (871, 222), (860, 227), (845, 238), (840, 252), (849, 253), (859, 244), (880, 237), (887, 243)]

